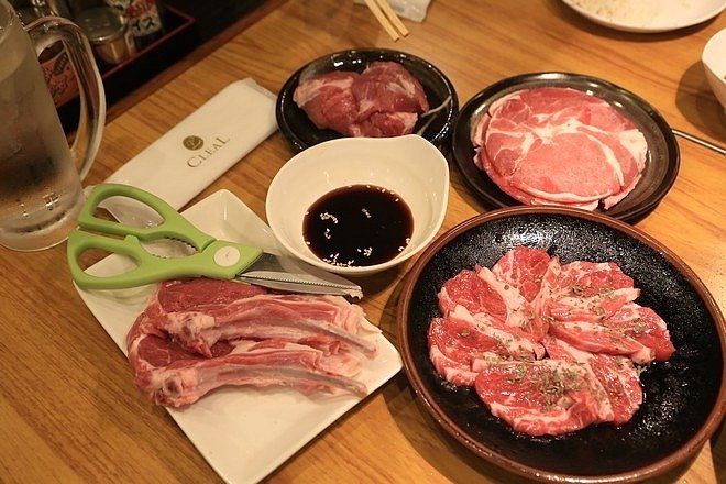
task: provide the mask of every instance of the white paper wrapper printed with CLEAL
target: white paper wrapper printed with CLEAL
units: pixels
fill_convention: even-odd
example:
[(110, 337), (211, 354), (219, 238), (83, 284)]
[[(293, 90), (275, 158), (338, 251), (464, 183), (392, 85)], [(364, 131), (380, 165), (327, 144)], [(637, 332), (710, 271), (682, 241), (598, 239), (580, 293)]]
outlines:
[[(277, 130), (275, 101), (254, 79), (234, 81), (107, 182), (143, 188), (178, 210)], [(127, 200), (109, 199), (103, 207), (113, 215), (132, 210)]]

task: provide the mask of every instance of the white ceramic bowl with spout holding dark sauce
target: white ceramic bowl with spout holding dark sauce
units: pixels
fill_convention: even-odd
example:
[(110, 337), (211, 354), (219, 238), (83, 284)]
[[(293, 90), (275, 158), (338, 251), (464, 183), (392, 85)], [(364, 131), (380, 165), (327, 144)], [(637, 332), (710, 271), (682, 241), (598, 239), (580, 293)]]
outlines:
[[(305, 213), (330, 191), (350, 185), (374, 185), (395, 191), (408, 205), (414, 232), (394, 258), (370, 266), (338, 266), (320, 260), (302, 235)], [(267, 222), (293, 255), (326, 271), (360, 276), (393, 267), (424, 249), (443, 222), (449, 199), (449, 165), (418, 135), (342, 138), (311, 146), (290, 158), (267, 191)]]

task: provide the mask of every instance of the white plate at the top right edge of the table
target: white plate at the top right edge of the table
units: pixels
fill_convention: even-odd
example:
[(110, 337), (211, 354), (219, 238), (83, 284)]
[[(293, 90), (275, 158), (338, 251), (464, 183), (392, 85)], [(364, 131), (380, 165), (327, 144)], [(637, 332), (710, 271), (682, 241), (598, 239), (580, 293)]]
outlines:
[(726, 0), (562, 0), (591, 21), (612, 29), (668, 32), (718, 15)]

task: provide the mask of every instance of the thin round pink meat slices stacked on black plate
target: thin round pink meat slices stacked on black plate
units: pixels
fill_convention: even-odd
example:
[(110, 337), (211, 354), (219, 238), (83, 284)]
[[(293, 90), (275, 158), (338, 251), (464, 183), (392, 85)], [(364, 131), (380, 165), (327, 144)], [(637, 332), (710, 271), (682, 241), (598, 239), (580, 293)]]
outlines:
[(472, 135), (474, 163), (528, 205), (608, 209), (640, 179), (648, 143), (607, 101), (542, 87), (492, 103)]

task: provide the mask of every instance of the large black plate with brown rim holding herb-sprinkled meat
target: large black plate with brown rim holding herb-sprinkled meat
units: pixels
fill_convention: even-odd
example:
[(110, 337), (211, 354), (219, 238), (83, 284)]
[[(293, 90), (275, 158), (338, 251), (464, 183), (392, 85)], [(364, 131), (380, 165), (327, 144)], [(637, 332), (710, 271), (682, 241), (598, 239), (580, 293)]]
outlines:
[[(441, 378), (427, 329), (440, 316), (444, 280), (475, 264), (492, 266), (516, 245), (544, 248), (563, 263), (613, 261), (641, 289), (638, 302), (667, 321), (675, 353), (641, 375), (645, 403), (622, 427), (592, 426), (560, 437), (517, 433), (473, 391)], [(653, 477), (695, 455), (726, 411), (726, 329), (703, 283), (675, 254), (629, 224), (574, 209), (514, 207), (446, 232), (407, 275), (398, 306), (404, 369), (426, 409), (486, 461), (543, 482), (625, 483)]]

